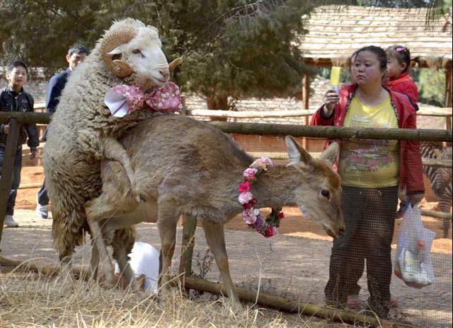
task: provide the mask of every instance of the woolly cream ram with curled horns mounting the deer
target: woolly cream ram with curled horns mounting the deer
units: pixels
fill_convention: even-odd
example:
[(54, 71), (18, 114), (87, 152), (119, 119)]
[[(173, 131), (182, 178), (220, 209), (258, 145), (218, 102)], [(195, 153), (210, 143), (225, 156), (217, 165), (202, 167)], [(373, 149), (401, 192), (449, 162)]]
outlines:
[[(71, 74), (52, 116), (42, 158), (52, 202), (52, 237), (62, 262), (69, 263), (89, 231), (84, 204), (101, 192), (102, 159), (120, 161), (134, 193), (134, 171), (117, 138), (156, 113), (144, 102), (140, 110), (122, 117), (112, 115), (105, 105), (106, 93), (115, 86), (134, 86), (146, 95), (166, 86), (171, 66), (156, 28), (127, 18), (113, 23)], [(114, 257), (124, 258), (117, 252), (130, 252), (134, 230), (119, 230), (113, 238), (120, 238), (123, 247), (127, 245), (117, 250), (113, 242)], [(130, 279), (127, 261), (120, 266)]]

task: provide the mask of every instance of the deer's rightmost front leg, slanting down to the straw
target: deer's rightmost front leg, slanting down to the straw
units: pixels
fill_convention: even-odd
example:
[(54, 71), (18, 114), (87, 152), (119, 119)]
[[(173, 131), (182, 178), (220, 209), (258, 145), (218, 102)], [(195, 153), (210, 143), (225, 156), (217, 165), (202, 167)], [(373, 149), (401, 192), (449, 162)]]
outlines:
[(228, 255), (226, 254), (225, 246), (225, 235), (224, 225), (215, 224), (206, 221), (202, 221), (203, 229), (205, 230), (205, 238), (207, 245), (210, 247), (212, 254), (214, 254), (215, 262), (219, 267), (222, 281), (226, 288), (226, 293), (231, 301), (231, 306), (236, 312), (242, 309), (241, 302), (239, 301), (238, 295), (234, 290), (233, 281), (229, 273)]

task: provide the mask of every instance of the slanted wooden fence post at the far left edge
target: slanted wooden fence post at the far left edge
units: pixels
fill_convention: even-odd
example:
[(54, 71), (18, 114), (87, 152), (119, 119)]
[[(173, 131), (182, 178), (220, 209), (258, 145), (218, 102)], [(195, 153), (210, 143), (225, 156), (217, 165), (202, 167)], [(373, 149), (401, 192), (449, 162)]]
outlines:
[(1, 234), (5, 221), (6, 204), (8, 202), (11, 182), (13, 180), (14, 160), (16, 160), (19, 124), (17, 119), (11, 118), (8, 123), (8, 138), (6, 139), (3, 165), (1, 165), (0, 179), (0, 245)]

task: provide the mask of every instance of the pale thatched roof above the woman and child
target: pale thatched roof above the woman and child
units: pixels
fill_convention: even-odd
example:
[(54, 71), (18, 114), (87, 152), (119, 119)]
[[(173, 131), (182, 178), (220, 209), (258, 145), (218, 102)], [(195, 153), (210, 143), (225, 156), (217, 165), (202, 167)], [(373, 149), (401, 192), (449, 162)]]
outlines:
[(426, 17), (426, 8), (321, 6), (308, 19), (299, 49), (308, 64), (321, 67), (344, 65), (352, 52), (366, 45), (404, 45), (425, 67), (451, 65), (451, 9), (428, 25)]

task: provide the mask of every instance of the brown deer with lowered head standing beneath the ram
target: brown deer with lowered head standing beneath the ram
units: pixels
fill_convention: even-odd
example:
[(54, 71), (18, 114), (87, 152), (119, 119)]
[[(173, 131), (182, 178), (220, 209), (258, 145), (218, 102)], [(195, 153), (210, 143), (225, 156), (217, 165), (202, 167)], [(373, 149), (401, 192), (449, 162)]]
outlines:
[[(331, 144), (316, 159), (291, 136), (286, 136), (285, 141), (289, 163), (275, 165), (257, 178), (252, 188), (258, 200), (256, 206), (298, 206), (304, 216), (329, 235), (339, 237), (345, 223), (340, 207), (340, 177), (332, 169), (339, 153), (338, 144)], [(243, 211), (238, 186), (253, 158), (219, 129), (183, 115), (161, 115), (140, 122), (120, 142), (130, 156), (141, 199), (137, 201), (133, 196), (120, 163), (101, 162), (102, 192), (85, 204), (93, 237), (93, 273), (101, 264), (106, 281), (115, 282), (103, 235), (140, 222), (157, 223), (161, 239), (161, 293), (167, 293), (176, 225), (180, 215), (185, 215), (202, 223), (226, 294), (232, 307), (240, 309), (229, 272), (224, 224)], [(125, 265), (127, 258), (119, 262), (127, 269), (125, 279), (133, 283), (134, 275)]]

